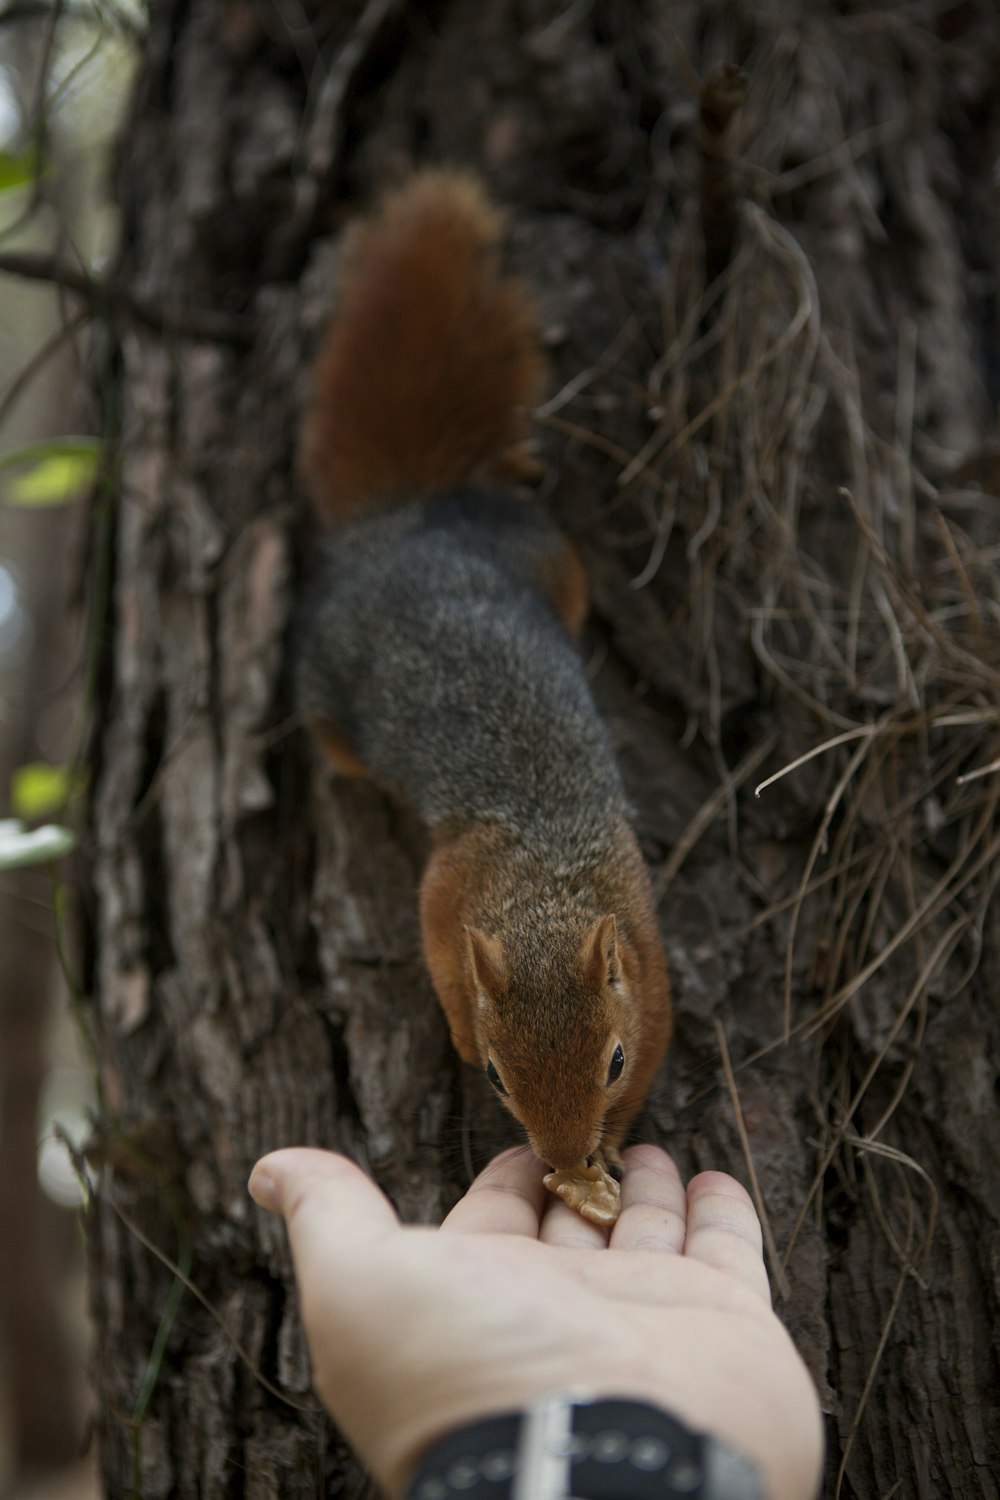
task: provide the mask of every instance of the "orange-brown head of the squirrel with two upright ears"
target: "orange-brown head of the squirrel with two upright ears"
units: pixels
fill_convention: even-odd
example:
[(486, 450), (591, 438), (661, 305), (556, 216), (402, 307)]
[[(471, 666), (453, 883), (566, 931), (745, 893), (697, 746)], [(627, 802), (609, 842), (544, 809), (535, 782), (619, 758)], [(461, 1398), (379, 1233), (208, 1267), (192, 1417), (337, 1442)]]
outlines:
[(613, 915), (501, 942), (466, 927), (486, 1076), (550, 1167), (598, 1150), (637, 1053), (636, 956)]

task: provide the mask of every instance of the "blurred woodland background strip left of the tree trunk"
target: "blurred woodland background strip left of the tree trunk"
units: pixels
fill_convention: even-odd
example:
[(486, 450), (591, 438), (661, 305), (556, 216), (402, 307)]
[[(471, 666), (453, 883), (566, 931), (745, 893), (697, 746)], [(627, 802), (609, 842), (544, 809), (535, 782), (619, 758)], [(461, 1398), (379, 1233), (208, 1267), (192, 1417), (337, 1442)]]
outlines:
[(0, 1496), (97, 1492), (84, 1186), (94, 1080), (63, 942), (85, 736), (82, 578), (100, 513), (114, 140), (142, 8), (0, 0)]

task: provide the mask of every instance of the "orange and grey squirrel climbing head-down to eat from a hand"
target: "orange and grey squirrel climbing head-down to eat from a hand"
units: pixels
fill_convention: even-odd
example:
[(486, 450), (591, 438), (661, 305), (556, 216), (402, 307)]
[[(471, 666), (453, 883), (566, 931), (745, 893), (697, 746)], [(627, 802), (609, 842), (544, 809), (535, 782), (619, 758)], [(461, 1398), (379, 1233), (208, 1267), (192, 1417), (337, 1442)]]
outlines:
[(330, 544), (297, 702), (430, 832), (423, 948), (456, 1050), (544, 1162), (594, 1179), (621, 1168), (670, 996), (574, 644), (583, 567), (511, 492), (546, 362), (502, 226), (477, 178), (424, 170), (345, 231), (301, 436)]

